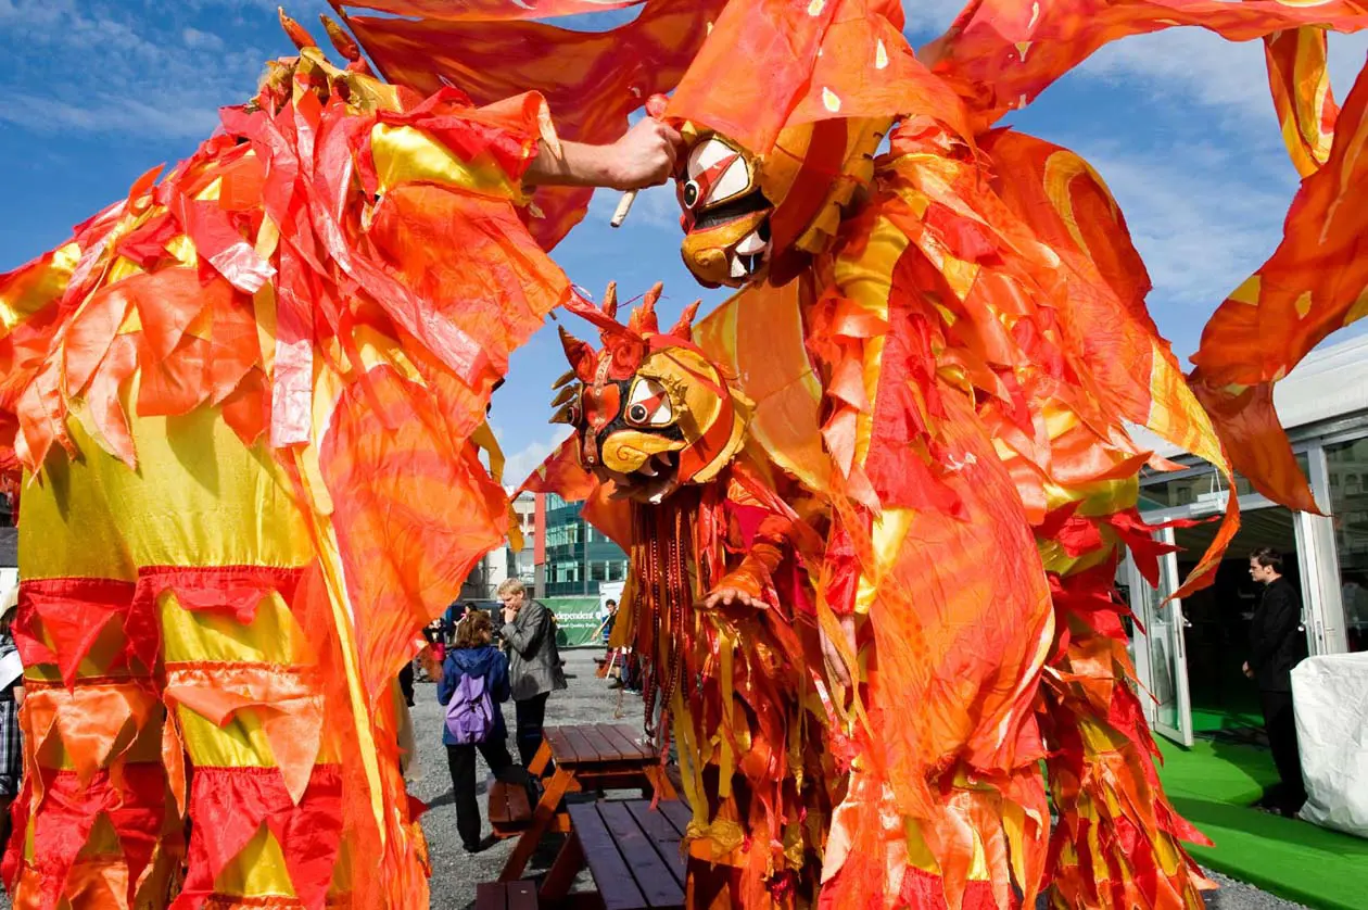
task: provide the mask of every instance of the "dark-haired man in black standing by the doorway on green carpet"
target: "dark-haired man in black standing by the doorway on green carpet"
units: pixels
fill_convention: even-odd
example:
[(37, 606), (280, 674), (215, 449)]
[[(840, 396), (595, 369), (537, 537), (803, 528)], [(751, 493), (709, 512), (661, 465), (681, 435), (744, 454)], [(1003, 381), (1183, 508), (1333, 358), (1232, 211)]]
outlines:
[(1301, 608), (1291, 584), (1282, 576), (1282, 556), (1259, 547), (1249, 554), (1249, 576), (1264, 586), (1264, 594), (1249, 624), (1249, 660), (1245, 676), (1259, 683), (1264, 709), (1264, 729), (1282, 783), (1264, 791), (1259, 806), (1283, 816), (1295, 816), (1306, 802), (1297, 751), (1297, 717), (1291, 706), (1291, 668), (1306, 651)]

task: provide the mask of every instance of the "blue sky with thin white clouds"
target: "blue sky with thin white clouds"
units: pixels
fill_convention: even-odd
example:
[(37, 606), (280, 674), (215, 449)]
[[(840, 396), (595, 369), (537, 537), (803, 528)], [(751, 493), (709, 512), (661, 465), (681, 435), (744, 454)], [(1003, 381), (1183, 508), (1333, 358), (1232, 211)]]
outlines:
[[(152, 164), (189, 155), (216, 108), (245, 100), (264, 60), (293, 51), (275, 0), (0, 0), (0, 271), (60, 244), (70, 227), (123, 196)], [(914, 42), (938, 34), (953, 0), (907, 3)], [(316, 27), (326, 7), (287, 0)], [(1331, 36), (1338, 97), (1368, 38)], [(554, 112), (553, 112), (554, 114)], [(1185, 359), (1216, 304), (1274, 250), (1295, 190), (1268, 100), (1261, 45), (1171, 30), (1104, 48), (1010, 120), (1079, 152), (1126, 212), (1155, 282), (1150, 311)], [(668, 316), (695, 297), (679, 261), (673, 193), (644, 193), (621, 230), (616, 194), (554, 256), (595, 294), (616, 279), (625, 297), (665, 282)], [(513, 360), (494, 400), (509, 479), (534, 468), (564, 427), (546, 423), (564, 371), (554, 328)]]

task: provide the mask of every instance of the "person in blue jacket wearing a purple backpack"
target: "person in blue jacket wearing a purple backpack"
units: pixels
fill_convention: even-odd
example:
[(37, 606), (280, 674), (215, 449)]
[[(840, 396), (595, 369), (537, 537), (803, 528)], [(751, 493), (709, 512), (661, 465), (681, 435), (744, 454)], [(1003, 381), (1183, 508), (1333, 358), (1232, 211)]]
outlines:
[(484, 610), (472, 610), (457, 623), (454, 646), (447, 650), (436, 699), (446, 705), (442, 742), (451, 768), (456, 829), (466, 853), (480, 853), (494, 836), (480, 840), (480, 806), (475, 798), (475, 753), (498, 780), (512, 777), (508, 727), (499, 702), (509, 699), (508, 657), (494, 647), (494, 623)]

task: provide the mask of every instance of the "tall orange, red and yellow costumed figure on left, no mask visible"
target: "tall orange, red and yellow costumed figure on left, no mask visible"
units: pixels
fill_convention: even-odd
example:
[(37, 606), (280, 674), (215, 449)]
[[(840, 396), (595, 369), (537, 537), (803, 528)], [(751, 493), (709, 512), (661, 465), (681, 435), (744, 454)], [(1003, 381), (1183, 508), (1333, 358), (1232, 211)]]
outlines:
[(479, 449), (573, 296), (523, 208), (561, 146), (536, 94), (286, 27), (190, 159), (0, 275), (23, 910), (428, 903), (394, 679), (512, 532)]

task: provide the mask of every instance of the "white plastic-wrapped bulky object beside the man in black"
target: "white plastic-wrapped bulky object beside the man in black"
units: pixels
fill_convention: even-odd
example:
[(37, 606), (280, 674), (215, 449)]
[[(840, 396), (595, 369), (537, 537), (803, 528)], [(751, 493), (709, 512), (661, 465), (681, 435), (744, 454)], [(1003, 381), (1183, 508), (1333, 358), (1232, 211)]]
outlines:
[(1368, 837), (1368, 654), (1308, 657), (1291, 690), (1308, 796), (1301, 817)]

